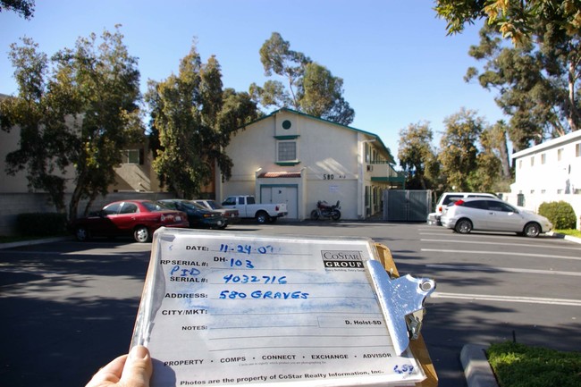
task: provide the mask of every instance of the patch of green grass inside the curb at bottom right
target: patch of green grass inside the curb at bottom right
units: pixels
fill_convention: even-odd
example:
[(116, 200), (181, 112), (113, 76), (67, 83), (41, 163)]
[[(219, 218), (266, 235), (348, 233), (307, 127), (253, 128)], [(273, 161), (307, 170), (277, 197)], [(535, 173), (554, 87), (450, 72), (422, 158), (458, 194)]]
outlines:
[(581, 352), (560, 352), (506, 341), (486, 349), (501, 387), (579, 387)]

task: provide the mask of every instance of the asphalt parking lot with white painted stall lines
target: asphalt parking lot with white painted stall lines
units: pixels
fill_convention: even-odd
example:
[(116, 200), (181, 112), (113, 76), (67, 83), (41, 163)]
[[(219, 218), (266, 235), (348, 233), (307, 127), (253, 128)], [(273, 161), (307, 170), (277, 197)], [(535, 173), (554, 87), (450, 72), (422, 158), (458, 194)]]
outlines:
[[(400, 273), (434, 278), (423, 328), (439, 386), (464, 385), (467, 343), (581, 348), (581, 245), (548, 236), (425, 223), (242, 223), (216, 232), (358, 236), (392, 250)], [(0, 250), (0, 385), (80, 386), (126, 352), (149, 244), (72, 240)]]

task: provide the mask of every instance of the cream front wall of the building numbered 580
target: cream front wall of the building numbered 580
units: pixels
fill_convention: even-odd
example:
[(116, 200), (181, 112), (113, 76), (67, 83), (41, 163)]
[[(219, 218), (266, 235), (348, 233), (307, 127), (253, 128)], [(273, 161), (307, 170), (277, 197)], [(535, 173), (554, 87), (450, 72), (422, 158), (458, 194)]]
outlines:
[[(232, 178), (219, 184), (217, 198), (255, 195), (260, 200), (261, 186), (295, 186), (299, 197), (298, 219), (308, 218), (318, 200), (330, 204), (339, 200), (343, 219), (360, 219), (366, 215), (365, 185), (372, 185), (371, 173), (364, 170), (361, 153), (365, 151), (362, 141), (370, 138), (358, 130), (305, 114), (279, 111), (232, 137), (226, 148), (234, 164)], [(296, 141), (297, 159), (280, 162), (277, 144), (289, 140)], [(265, 172), (293, 172), (299, 176), (261, 177)]]

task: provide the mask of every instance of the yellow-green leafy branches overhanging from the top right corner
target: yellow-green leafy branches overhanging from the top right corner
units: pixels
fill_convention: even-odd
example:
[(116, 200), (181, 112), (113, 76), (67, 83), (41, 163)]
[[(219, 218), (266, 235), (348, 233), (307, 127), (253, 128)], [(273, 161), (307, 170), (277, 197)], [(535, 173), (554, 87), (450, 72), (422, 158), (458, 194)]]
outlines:
[(578, 37), (581, 31), (579, 0), (436, 0), (434, 10), (448, 21), (449, 34), (461, 32), (467, 23), (485, 19), (515, 44), (529, 38), (539, 25), (560, 36)]

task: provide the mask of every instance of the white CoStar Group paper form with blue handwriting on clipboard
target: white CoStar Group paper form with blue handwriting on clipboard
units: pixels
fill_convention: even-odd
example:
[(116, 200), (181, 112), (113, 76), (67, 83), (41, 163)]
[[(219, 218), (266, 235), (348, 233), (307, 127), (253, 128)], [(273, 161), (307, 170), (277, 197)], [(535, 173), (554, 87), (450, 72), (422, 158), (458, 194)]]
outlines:
[(366, 239), (157, 231), (132, 342), (154, 358), (152, 387), (423, 380), (393, 349), (375, 254)]

